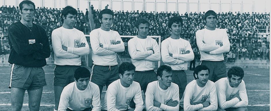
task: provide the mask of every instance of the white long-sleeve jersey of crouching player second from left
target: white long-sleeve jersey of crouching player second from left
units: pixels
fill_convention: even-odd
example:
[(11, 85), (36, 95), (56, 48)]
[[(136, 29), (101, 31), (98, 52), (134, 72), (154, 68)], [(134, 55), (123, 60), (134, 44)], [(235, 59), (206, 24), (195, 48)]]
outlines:
[(118, 79), (109, 84), (101, 109), (107, 111), (127, 110), (132, 99), (135, 102), (134, 111), (142, 111), (144, 107), (140, 84), (133, 81), (129, 87), (124, 87), (121, 85), (121, 80)]

